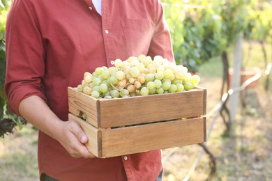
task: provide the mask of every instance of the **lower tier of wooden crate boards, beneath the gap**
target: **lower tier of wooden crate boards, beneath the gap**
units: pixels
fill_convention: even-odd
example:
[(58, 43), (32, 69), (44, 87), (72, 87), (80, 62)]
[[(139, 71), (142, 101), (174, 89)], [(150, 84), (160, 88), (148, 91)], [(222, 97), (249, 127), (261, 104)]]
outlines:
[(80, 123), (89, 137), (86, 147), (96, 157), (115, 157), (206, 141), (204, 116), (116, 129), (97, 129), (73, 114), (69, 114), (69, 118)]

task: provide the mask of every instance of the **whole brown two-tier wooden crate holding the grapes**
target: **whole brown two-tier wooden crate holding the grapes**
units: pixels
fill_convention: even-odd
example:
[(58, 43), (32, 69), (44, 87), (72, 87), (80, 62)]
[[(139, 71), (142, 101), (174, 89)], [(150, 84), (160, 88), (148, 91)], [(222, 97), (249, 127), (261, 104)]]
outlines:
[[(96, 157), (114, 157), (206, 141), (206, 89), (96, 99), (68, 88), (69, 119), (89, 137)], [(87, 120), (80, 118), (86, 113)], [(183, 118), (181, 120), (181, 118)]]

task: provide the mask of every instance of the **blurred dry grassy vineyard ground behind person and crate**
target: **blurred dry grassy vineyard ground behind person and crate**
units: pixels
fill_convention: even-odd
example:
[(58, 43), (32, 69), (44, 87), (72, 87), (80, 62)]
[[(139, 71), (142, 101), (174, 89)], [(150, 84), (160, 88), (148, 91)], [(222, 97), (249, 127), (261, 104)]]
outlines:
[[(272, 180), (272, 88), (264, 91), (263, 82), (264, 78), (257, 87), (243, 91), (246, 104), (242, 107), (239, 102), (229, 136), (220, 116), (207, 118), (206, 146), (216, 159), (216, 173), (209, 180)], [(220, 77), (202, 78), (200, 86), (208, 93), (207, 113), (220, 102), (220, 85)], [(31, 125), (0, 139), (0, 181), (38, 180), (36, 143), (37, 132)], [(186, 178), (201, 151), (199, 145), (163, 150), (163, 180)], [(209, 161), (204, 153), (189, 180), (206, 180)]]

